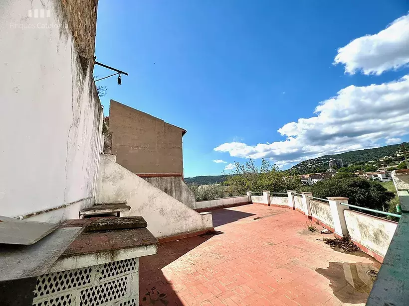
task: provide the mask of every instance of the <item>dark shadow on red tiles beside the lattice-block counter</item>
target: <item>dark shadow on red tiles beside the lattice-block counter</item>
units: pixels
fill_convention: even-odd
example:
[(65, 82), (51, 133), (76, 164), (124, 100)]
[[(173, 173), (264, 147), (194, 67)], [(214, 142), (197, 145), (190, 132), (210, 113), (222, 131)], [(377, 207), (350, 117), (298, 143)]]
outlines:
[[(183, 284), (174, 282), (172, 271), (167, 271), (166, 277), (162, 268), (182, 257), (190, 250), (201, 245), (213, 235), (196, 236), (179, 241), (160, 244), (156, 255), (139, 259), (139, 305), (183, 306), (175, 290), (183, 290)], [(189, 269), (189, 265), (182, 263), (181, 269)], [(171, 283), (172, 281), (172, 283)]]

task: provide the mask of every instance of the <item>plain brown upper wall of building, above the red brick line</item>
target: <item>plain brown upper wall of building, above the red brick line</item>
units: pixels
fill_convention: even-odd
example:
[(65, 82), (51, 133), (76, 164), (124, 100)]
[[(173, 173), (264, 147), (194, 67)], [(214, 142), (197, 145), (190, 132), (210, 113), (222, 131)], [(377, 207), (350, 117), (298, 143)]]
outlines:
[(183, 129), (111, 100), (111, 153), (133, 173), (183, 173)]

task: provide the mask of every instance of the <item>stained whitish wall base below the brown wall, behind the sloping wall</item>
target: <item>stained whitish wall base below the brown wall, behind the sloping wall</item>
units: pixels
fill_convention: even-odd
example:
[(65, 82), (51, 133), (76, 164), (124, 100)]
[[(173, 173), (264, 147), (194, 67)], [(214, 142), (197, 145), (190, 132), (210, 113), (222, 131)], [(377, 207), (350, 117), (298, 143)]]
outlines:
[(143, 177), (143, 179), (188, 207), (196, 208), (195, 193), (186, 185), (182, 176)]

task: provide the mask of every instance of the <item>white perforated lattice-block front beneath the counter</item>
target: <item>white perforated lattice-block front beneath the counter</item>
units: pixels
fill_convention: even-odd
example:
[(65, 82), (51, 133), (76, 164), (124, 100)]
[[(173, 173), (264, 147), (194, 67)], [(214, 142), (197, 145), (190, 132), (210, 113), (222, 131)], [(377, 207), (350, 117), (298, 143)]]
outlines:
[(37, 278), (33, 306), (138, 306), (138, 258)]

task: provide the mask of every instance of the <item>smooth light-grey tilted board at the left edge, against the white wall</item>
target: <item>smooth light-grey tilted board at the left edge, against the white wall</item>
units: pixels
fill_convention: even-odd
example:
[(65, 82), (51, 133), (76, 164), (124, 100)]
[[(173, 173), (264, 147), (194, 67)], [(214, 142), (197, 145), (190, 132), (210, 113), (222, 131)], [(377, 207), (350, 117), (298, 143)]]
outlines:
[(58, 227), (58, 224), (17, 220), (0, 216), (0, 243), (29, 245)]

